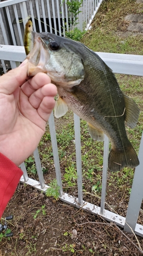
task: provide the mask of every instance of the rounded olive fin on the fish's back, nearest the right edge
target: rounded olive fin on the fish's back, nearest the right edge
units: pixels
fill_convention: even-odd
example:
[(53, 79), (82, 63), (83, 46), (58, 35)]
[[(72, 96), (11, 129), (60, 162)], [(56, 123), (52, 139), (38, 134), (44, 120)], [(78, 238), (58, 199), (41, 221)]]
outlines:
[(133, 99), (124, 94), (125, 107), (126, 107), (126, 123), (130, 128), (134, 128), (138, 121), (139, 109)]

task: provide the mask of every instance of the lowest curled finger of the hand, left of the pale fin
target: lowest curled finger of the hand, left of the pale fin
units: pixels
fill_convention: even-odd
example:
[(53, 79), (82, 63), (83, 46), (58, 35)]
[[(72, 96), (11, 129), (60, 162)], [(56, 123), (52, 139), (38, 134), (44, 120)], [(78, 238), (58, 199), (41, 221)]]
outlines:
[(37, 112), (39, 116), (41, 116), (41, 118), (45, 120), (45, 122), (48, 121), (54, 106), (55, 106), (55, 100), (53, 97), (46, 96), (43, 98)]

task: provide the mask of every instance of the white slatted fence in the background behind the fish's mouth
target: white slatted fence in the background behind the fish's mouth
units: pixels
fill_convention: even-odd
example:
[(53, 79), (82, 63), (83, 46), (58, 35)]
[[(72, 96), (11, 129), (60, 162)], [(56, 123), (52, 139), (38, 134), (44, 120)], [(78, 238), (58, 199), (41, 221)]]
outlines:
[[(71, 1), (71, 0), (70, 0)], [(70, 2), (69, 1), (69, 2)], [(81, 2), (81, 1), (80, 1)], [(83, 0), (77, 26), (88, 29), (102, 0)], [(23, 31), (28, 17), (34, 31), (63, 34), (72, 19), (67, 0), (7, 0), (0, 2), (0, 44), (23, 46)], [(3, 35), (2, 35), (3, 34)], [(1, 41), (2, 40), (2, 41)]]

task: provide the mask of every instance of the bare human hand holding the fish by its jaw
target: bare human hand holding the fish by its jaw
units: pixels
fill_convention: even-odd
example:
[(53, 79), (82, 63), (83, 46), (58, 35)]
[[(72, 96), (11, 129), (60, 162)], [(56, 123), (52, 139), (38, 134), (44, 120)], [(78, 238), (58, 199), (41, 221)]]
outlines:
[(36, 149), (57, 93), (44, 73), (27, 77), (27, 60), (0, 77), (0, 152), (21, 164)]

